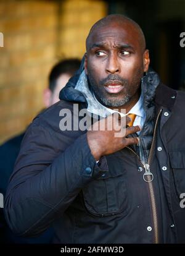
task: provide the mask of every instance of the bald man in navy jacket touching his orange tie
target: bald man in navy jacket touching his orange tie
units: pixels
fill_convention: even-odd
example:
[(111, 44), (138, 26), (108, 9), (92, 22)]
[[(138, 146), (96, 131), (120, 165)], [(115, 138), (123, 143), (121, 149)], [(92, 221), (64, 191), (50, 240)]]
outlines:
[[(10, 228), (33, 236), (54, 223), (57, 243), (184, 242), (185, 95), (149, 70), (139, 25), (95, 23), (60, 99), (28, 127), (6, 195)], [(62, 130), (64, 109), (76, 124), (74, 104), (99, 116), (88, 131)], [(126, 117), (120, 129), (113, 109), (133, 125)]]

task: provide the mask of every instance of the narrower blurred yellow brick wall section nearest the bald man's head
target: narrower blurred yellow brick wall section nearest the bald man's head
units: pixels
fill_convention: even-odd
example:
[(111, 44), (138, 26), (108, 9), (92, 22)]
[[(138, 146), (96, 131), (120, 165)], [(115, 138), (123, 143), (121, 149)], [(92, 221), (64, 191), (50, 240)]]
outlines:
[(83, 56), (89, 29), (97, 20), (107, 14), (106, 7), (104, 1), (70, 0), (62, 2), (58, 45), (60, 55), (80, 58)]

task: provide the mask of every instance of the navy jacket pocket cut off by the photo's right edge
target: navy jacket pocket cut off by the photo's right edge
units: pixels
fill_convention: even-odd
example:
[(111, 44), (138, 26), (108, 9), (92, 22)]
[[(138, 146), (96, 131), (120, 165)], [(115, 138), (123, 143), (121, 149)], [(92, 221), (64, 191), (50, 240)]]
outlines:
[(170, 164), (173, 171), (178, 196), (185, 193), (185, 150), (170, 151)]

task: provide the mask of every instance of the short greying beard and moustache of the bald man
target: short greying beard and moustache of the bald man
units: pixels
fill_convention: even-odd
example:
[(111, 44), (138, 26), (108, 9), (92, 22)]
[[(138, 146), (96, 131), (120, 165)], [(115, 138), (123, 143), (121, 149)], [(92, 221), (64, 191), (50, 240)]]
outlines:
[[(131, 83), (129, 83), (128, 79), (123, 79), (119, 75), (108, 75), (105, 79), (102, 79), (99, 82), (99, 85), (97, 85), (97, 82), (94, 79), (94, 76), (91, 74), (91, 70), (88, 70), (88, 80), (89, 85), (94, 92), (94, 94), (97, 96), (99, 100), (103, 103), (105, 106), (117, 108), (120, 106), (125, 105), (128, 103), (128, 101), (131, 100), (133, 94), (130, 92), (130, 88), (136, 87), (136, 89), (139, 88), (139, 85), (141, 83), (141, 77), (142, 77), (142, 70), (138, 70), (137, 74), (134, 76)], [(121, 82), (121, 85), (123, 85), (123, 90), (119, 93), (111, 93), (110, 96), (107, 96), (107, 92), (105, 91), (104, 85), (105, 83), (109, 82), (110, 80), (118, 80)], [(118, 98), (118, 95), (123, 94), (123, 97), (120, 99)]]

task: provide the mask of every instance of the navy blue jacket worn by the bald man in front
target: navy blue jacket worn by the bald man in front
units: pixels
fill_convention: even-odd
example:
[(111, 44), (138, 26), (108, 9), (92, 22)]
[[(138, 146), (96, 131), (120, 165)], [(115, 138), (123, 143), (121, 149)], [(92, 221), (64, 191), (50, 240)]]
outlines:
[(78, 75), (62, 90), (62, 100), (28, 127), (6, 194), (10, 228), (33, 236), (54, 224), (58, 243), (185, 242), (185, 93), (157, 87), (154, 181), (147, 183), (144, 166), (129, 148), (97, 164), (86, 131), (60, 130), (61, 109), (86, 107), (74, 90)]

